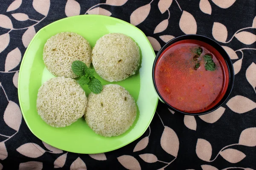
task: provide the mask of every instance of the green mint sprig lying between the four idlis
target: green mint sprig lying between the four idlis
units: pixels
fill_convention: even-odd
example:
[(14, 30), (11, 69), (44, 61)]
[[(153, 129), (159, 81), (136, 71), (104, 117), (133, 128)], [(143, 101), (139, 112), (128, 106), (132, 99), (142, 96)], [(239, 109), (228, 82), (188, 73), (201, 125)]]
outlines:
[(88, 88), (94, 94), (99, 94), (102, 91), (101, 82), (93, 76), (94, 70), (88, 68), (87, 65), (84, 64), (84, 62), (81, 62), (79, 60), (74, 61), (71, 68), (74, 74), (80, 77), (80, 85), (88, 85)]

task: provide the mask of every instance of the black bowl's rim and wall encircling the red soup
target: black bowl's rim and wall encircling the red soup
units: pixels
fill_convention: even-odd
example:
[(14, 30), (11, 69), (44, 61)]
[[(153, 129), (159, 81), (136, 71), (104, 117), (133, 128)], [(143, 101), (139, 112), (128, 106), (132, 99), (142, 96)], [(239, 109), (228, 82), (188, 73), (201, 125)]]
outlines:
[[(156, 82), (155, 82), (155, 77), (154, 77), (154, 71), (155, 71), (155, 66), (157, 63), (158, 58), (160, 57), (160, 54), (162, 54), (162, 52), (169, 47), (170, 45), (172, 45), (175, 42), (181, 41), (181, 40), (199, 40), (202, 42), (205, 42), (209, 45), (211, 45), (213, 48), (215, 48), (220, 54), (221, 56), (224, 58), (226, 64), (227, 64), (227, 68), (228, 68), (228, 73), (229, 73), (229, 82), (228, 82), (228, 86), (227, 86), (227, 91), (225, 92), (224, 96), (222, 97), (222, 99), (212, 108), (203, 111), (203, 112), (198, 112), (198, 113), (187, 113), (187, 112), (183, 112), (183, 111), (179, 111), (175, 108), (173, 108), (171, 105), (169, 105), (164, 99), (163, 97), (160, 95), (159, 91), (157, 90), (157, 86), (156, 86)], [(154, 88), (157, 91), (157, 94), (159, 96), (159, 99), (165, 103), (168, 108), (170, 108), (171, 110), (178, 112), (178, 113), (183, 113), (183, 114), (187, 114), (187, 115), (192, 115), (192, 116), (198, 116), (198, 115), (203, 115), (203, 114), (207, 114), (210, 113), (212, 111), (215, 111), (216, 109), (218, 109), (228, 98), (228, 96), (230, 95), (233, 85), (234, 85), (234, 79), (235, 79), (235, 74), (234, 74), (234, 68), (233, 68), (233, 64), (231, 62), (230, 57), (228, 56), (227, 52), (224, 50), (224, 48), (221, 47), (221, 45), (219, 45), (217, 42), (215, 42), (212, 39), (209, 39), (207, 37), (201, 36), (201, 35), (195, 35), (195, 34), (189, 34), (189, 35), (183, 35), (180, 37), (176, 37), (172, 40), (170, 40), (169, 42), (166, 43), (166, 45), (163, 46), (163, 48), (160, 49), (160, 51), (158, 51), (157, 56), (154, 60), (154, 65), (153, 65), (153, 71), (152, 71), (152, 77), (153, 77), (153, 82), (154, 82)]]

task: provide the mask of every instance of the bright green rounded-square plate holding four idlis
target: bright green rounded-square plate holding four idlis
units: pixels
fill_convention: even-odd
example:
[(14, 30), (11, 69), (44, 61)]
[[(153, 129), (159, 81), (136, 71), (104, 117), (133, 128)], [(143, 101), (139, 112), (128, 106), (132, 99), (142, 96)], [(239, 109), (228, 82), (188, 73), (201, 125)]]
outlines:
[[(45, 81), (54, 77), (44, 65), (44, 44), (53, 35), (65, 31), (80, 34), (92, 47), (100, 37), (109, 33), (126, 34), (139, 45), (141, 65), (135, 75), (114, 83), (95, 75), (103, 85), (123, 86), (135, 99), (137, 118), (131, 128), (122, 135), (110, 138), (99, 136), (87, 126), (83, 118), (68, 127), (51, 127), (38, 115), (36, 109), (38, 89)], [(74, 153), (104, 153), (123, 147), (138, 139), (154, 116), (158, 102), (151, 77), (154, 58), (154, 50), (145, 34), (125, 21), (102, 15), (79, 15), (51, 23), (35, 34), (20, 65), (18, 96), (23, 118), (35, 136), (62, 150)], [(90, 93), (86, 86), (82, 88), (86, 95)]]

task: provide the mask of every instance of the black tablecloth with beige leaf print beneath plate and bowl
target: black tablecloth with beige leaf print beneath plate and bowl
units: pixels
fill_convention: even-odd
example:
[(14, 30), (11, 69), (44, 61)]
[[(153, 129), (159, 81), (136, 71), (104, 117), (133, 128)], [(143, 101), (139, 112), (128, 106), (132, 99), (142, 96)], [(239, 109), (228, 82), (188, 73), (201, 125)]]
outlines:
[[(155, 52), (184, 34), (216, 40), (234, 65), (230, 97), (204, 116), (174, 113), (159, 102), (143, 136), (108, 153), (77, 154), (45, 144), (20, 112), (20, 61), (40, 28), (79, 14), (108, 15), (135, 25)], [(255, 87), (255, 0), (0, 0), (0, 170), (256, 169)]]

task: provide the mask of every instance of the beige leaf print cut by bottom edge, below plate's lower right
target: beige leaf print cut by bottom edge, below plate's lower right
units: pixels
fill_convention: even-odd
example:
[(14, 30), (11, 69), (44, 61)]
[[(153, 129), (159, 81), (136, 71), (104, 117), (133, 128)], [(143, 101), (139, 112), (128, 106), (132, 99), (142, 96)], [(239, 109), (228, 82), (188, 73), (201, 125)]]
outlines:
[(141, 170), (140, 163), (133, 156), (123, 155), (119, 156), (117, 160), (128, 170)]

